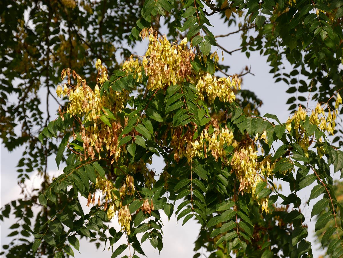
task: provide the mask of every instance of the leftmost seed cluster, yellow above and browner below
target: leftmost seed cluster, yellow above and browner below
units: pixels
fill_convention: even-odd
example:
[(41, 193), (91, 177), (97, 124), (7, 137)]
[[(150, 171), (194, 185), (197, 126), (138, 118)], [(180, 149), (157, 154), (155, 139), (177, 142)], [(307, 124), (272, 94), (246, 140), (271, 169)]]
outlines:
[[(103, 85), (108, 80), (107, 69), (99, 59), (96, 61), (95, 66), (98, 69), (98, 83), (99, 85)], [(68, 85), (71, 85), (70, 69), (64, 69), (62, 71), (62, 79), (67, 75)], [(84, 119), (84, 121), (80, 121), (80, 135), (84, 148), (84, 153), (82, 154), (83, 159), (87, 157), (94, 159), (96, 153), (100, 153), (100, 151), (104, 150), (104, 146), (106, 146), (106, 150), (113, 157), (112, 162), (117, 161), (120, 157), (118, 136), (125, 125), (122, 126), (119, 120), (116, 120), (111, 123), (111, 126), (108, 126), (100, 117), (102, 114), (109, 115), (106, 110), (116, 114), (125, 108), (124, 103), (129, 98), (128, 91), (123, 90), (122, 92), (118, 92), (109, 88), (106, 94), (100, 97), (98, 85), (92, 90), (86, 84), (86, 80), (82, 79), (75, 71), (72, 72), (72, 76), (77, 81), (76, 85), (67, 87), (67, 84), (64, 83), (63, 89), (59, 85), (56, 92), (59, 97), (68, 96), (69, 104), (66, 111), (67, 114), (70, 116), (77, 115)], [(74, 138), (76, 138), (75, 135)], [(101, 157), (98, 155), (98, 158), (100, 159)]]

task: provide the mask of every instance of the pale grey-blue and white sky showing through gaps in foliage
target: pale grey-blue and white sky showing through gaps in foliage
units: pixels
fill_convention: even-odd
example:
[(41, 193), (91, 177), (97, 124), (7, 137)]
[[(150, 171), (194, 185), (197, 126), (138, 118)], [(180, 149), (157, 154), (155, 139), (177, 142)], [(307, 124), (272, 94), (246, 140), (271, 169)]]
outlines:
[[(214, 35), (224, 34), (228, 33), (230, 31), (235, 31), (237, 28), (232, 27), (230, 30), (227, 30), (227, 26), (222, 24), (222, 21), (219, 19), (219, 16), (212, 15), (209, 16), (209, 19), (211, 23), (214, 25), (214, 27), (210, 27), (209, 29), (212, 31)], [(161, 32), (165, 32), (165, 26), (162, 26)], [(240, 41), (240, 33), (238, 34), (232, 34), (229, 37), (225, 38), (218, 38), (218, 44), (226, 48), (227, 50), (233, 50), (239, 47), (241, 41)], [(212, 47), (212, 51), (215, 51), (217, 47)], [(143, 55), (146, 50), (146, 41), (142, 44), (138, 44), (134, 51), (139, 54)], [(218, 54), (221, 54), (220, 51), (218, 51)], [(233, 55), (229, 55), (224, 52), (224, 64), (229, 65), (230, 69), (228, 71), (228, 74), (239, 74), (245, 66), (251, 66), (251, 72), (255, 74), (255, 76), (252, 76), (250, 74), (244, 76), (243, 78), (243, 84), (242, 89), (248, 89), (257, 94), (257, 96), (263, 101), (263, 105), (260, 108), (261, 115), (264, 115), (265, 113), (272, 113), (276, 114), (277, 117), (279, 117), (280, 121), (285, 121), (289, 116), (288, 111), (288, 104), (285, 104), (287, 99), (291, 97), (291, 94), (285, 93), (288, 86), (283, 82), (280, 81), (278, 83), (274, 83), (273, 74), (269, 73), (269, 70), (271, 67), (267, 63), (267, 56), (260, 56), (259, 51), (251, 52), (250, 58), (248, 59), (244, 53), (241, 53), (240, 51), (233, 53)], [(288, 65), (288, 61), (285, 60), (284, 64), (285, 72), (290, 72), (291, 67)], [(217, 74), (220, 75), (219, 73)], [(222, 75), (221, 75), (222, 76)], [(41, 94), (42, 99), (45, 98), (45, 94)], [(307, 96), (305, 96), (307, 97)], [(45, 101), (42, 101), (42, 103), (45, 103)], [(50, 108), (50, 114), (54, 114), (57, 110), (56, 102), (52, 101), (50, 102), (51, 108)], [(312, 103), (313, 105), (314, 103)], [(311, 104), (310, 104), (311, 105)], [(45, 106), (42, 106), (42, 110), (44, 112)], [(23, 152), (23, 149), (16, 149), (13, 152), (9, 153), (7, 149), (3, 147), (3, 144), (0, 145), (0, 206), (2, 207), (4, 204), (10, 202), (11, 200), (15, 200), (20, 197), (20, 188), (17, 185), (17, 172), (16, 172), (16, 164), (21, 158), (21, 154)], [(162, 171), (163, 169), (163, 161), (161, 158), (154, 158), (153, 164), (151, 166), (152, 168), (156, 169), (156, 172), (159, 173), (159, 171)], [(56, 163), (55, 163), (55, 157), (49, 158), (49, 167), (48, 167), (49, 175), (59, 175), (61, 173), (61, 169), (57, 170)], [(31, 173), (32, 180), (30, 184), (32, 186), (38, 186), (40, 183), (40, 179), (37, 178), (37, 176), (34, 176), (34, 172)], [(334, 175), (334, 178), (339, 179), (338, 173)], [(285, 195), (288, 195), (290, 193), (288, 189), (288, 184), (283, 183), (283, 191), (282, 193)], [(31, 187), (31, 185), (29, 186)], [(312, 186), (309, 186), (301, 191), (299, 191), (297, 194), (302, 200), (302, 203), (305, 204), (307, 202), (307, 199), (309, 198), (310, 190)], [(319, 200), (322, 197), (318, 197), (316, 200), (312, 200), (310, 202), (310, 209), (309, 207), (305, 205), (301, 205), (301, 210), (304, 213), (306, 220), (305, 223), (308, 223), (309, 229), (309, 236), (307, 237), (307, 240), (310, 242), (314, 242), (314, 224), (315, 222), (312, 220), (310, 222), (310, 211), (314, 203), (316, 203), (317, 200)], [(88, 208), (85, 206), (86, 201), (83, 200), (83, 209), (84, 212), (87, 212)], [(180, 221), (178, 224), (176, 224), (176, 218), (173, 215), (170, 218), (170, 222), (168, 222), (167, 216), (164, 214), (163, 211), (160, 211), (162, 216), (162, 221), (164, 224), (163, 229), (163, 250), (161, 251), (161, 254), (158, 254), (158, 250), (156, 249), (156, 252), (154, 252), (153, 247), (150, 245), (150, 241), (146, 240), (146, 242), (143, 243), (142, 249), (145, 251), (145, 254), (147, 257), (192, 257), (195, 252), (193, 251), (194, 248), (194, 241), (197, 239), (200, 225), (197, 224), (194, 220), (188, 221), (183, 227), (182, 221)], [(119, 225), (116, 222), (116, 218), (113, 220), (113, 226), (116, 228), (116, 230), (119, 230)], [(10, 239), (6, 236), (11, 232), (11, 230), (8, 229), (10, 225), (12, 225), (14, 222), (14, 217), (11, 216), (10, 220), (5, 220), (4, 222), (0, 223), (1, 231), (0, 231), (0, 242), (1, 247), (0, 251), (2, 251), (2, 245), (7, 244)], [(142, 234), (141, 234), (142, 235)], [(138, 237), (140, 240), (141, 237)], [(115, 247), (119, 246), (122, 243), (125, 243), (126, 239), (124, 240), (124, 237), (122, 237), (118, 243), (115, 245)], [(108, 246), (107, 246), (108, 248)], [(81, 253), (78, 253), (78, 251), (74, 250), (74, 254), (76, 257), (110, 257), (111, 252), (107, 251), (107, 248), (105, 251), (102, 251), (104, 247), (100, 247), (98, 250), (96, 249), (95, 245), (92, 243), (88, 243), (85, 241), (85, 239), (80, 241), (80, 251)], [(324, 254), (324, 251), (321, 249), (318, 245), (312, 245), (312, 251), (314, 254), (314, 257), (318, 257), (320, 254)], [(132, 250), (131, 250), (132, 251)], [(129, 255), (129, 250), (127, 249), (125, 252), (123, 252), (121, 255)], [(139, 255), (140, 256), (140, 255)], [(205, 256), (201, 256), (205, 257)]]

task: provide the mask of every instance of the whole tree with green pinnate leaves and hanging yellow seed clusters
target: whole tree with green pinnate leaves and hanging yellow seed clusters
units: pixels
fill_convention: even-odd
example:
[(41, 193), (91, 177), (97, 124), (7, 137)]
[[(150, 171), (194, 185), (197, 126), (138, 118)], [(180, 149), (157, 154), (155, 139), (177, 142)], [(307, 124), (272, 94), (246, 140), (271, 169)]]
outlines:
[[(113, 2), (111, 4), (117, 7)], [(46, 74), (47, 80), (57, 81), (57, 70), (61, 71), (57, 94), (68, 100), (61, 105), (59, 116), (46, 122), (47, 126), (37, 138), (30, 134), (25, 136), (30, 143), (34, 141), (30, 148), (36, 149), (35, 146), (41, 144), (38, 149), (45, 150), (40, 156), (40, 166), (46, 165), (47, 155), (54, 151), (57, 165), (65, 161), (67, 166), (58, 178), (52, 181), (47, 178), (42, 190), (31, 199), (19, 200), (20, 205), (12, 203), (15, 214), (28, 224), (22, 226), (21, 234), (30, 237), (28, 232), (31, 232), (35, 241), (13, 244), (8, 247), (7, 255), (73, 255), (71, 246), (79, 248), (76, 236), (113, 245), (124, 233), (128, 244), (114, 250), (113, 257), (126, 248), (144, 254), (137, 239), (139, 233), (144, 233), (141, 242), (149, 239), (153, 247), (161, 250), (160, 212), (170, 217), (175, 200), (184, 200), (175, 207), (175, 214), (183, 223), (191, 218), (199, 221), (203, 230), (195, 248), (205, 246), (212, 253), (211, 257), (226, 257), (231, 252), (238, 257), (272, 257), (281, 253), (285, 257), (311, 257), (311, 243), (305, 239), (307, 228), (299, 210), (301, 201), (297, 191), (317, 182), (310, 199), (322, 193), (325, 199), (315, 205), (312, 215), (317, 215), (321, 209), (327, 212), (318, 217), (316, 230), (332, 221), (333, 227), (326, 230), (326, 234), (335, 234), (338, 238), (328, 253), (340, 257), (343, 254), (342, 223), (339, 223), (342, 207), (333, 192), (332, 174), (342, 171), (343, 152), (332, 144), (342, 134), (335, 129), (336, 116), (342, 113), (339, 94), (343, 75), (339, 67), (342, 1), (151, 0), (144, 1), (142, 7), (139, 7), (141, 2), (137, 3), (132, 7), (142, 8), (140, 17), (135, 21), (135, 15), (129, 15), (130, 35), (125, 34), (128, 28), (121, 31), (122, 27), (117, 26), (120, 27), (118, 39), (126, 38), (134, 44), (140, 37), (147, 38), (149, 47), (142, 57), (129, 56), (123, 51), (128, 59), (122, 67), (108, 59), (110, 51), (102, 51), (108, 49), (101, 37), (105, 13), (108, 13), (104, 9), (115, 8), (106, 5), (108, 2), (94, 5), (86, 1), (49, 2), (45, 8), (42, 8), (45, 2), (32, 6), (14, 1), (5, 3), (8, 12), (2, 13), (2, 21), (11, 19), (8, 14), (29, 9), (36, 17), (33, 19), (37, 21), (36, 32), (42, 32), (42, 26), (46, 25), (45, 46), (56, 48), (57, 53), (62, 49), (61, 55), (53, 59), (56, 63), (50, 60), (53, 55), (50, 48), (43, 47), (47, 54), (41, 55), (45, 57), (46, 70), (51, 72), (49, 76)], [(130, 4), (120, 1), (118, 8), (126, 10)], [(38, 12), (40, 10), (44, 10), (41, 12), (45, 16)], [(90, 19), (80, 15), (87, 10), (86, 17)], [(89, 10), (103, 14), (98, 25)], [(66, 21), (69, 36), (61, 43), (52, 43), (48, 36), (49, 23), (57, 13)], [(243, 16), (239, 30), (230, 32), (242, 32), (241, 48), (235, 51), (249, 55), (249, 51), (260, 50), (261, 54), (268, 55), (270, 72), (275, 73), (276, 81), (299, 83), (301, 86), (292, 86), (287, 92), (306, 92), (305, 96), (312, 92), (314, 100), (318, 101), (316, 108), (308, 109), (305, 104), (308, 99), (298, 95), (297, 99), (288, 100), (292, 103), (289, 110), (293, 110), (293, 116), (287, 121), (281, 122), (269, 113), (262, 117), (255, 94), (240, 89), (243, 74), (217, 77), (214, 73), (220, 70), (226, 74), (227, 67), (219, 64), (220, 53), (211, 52), (211, 45), (217, 43), (206, 16), (216, 13), (228, 26)], [(75, 15), (74, 19), (70, 15)], [(42, 16), (47, 17), (47, 24), (41, 23)], [(168, 26), (168, 38), (158, 34), (161, 16)], [(83, 31), (71, 24), (79, 25), (82, 21), (89, 22), (86, 39)], [(2, 25), (1, 29), (11, 31), (17, 28), (16, 22), (8, 23), (8, 27)], [(120, 20), (115, 24), (120, 24)], [(107, 29), (110, 31), (115, 24), (108, 23)], [(28, 30), (27, 26), (25, 29)], [(255, 36), (248, 38), (249, 31), (256, 31)], [(181, 36), (183, 32), (187, 33), (186, 37)], [(37, 35), (32, 33), (28, 43), (42, 42)], [(81, 39), (73, 43), (73, 38)], [(22, 53), (14, 50), (21, 50), (26, 44), (17, 40), (4, 40), (1, 44), (6, 49), (1, 54), (1, 63), (7, 68), (3, 71), (7, 92), (18, 91), (11, 85), (17, 75), (12, 69), (15, 62), (10, 63), (10, 60), (19, 58)], [(84, 44), (95, 49), (86, 58), (82, 51), (76, 52), (74, 60), (84, 62), (80, 67), (72, 62), (72, 53), (76, 55), (72, 50), (75, 44), (81, 44), (79, 49), (85, 47)], [(69, 63), (63, 61), (65, 52)], [(27, 54), (30, 54), (28, 50), (23, 56)], [(96, 55), (101, 59), (96, 61), (95, 76), (90, 67)], [(282, 57), (295, 68), (290, 74), (279, 72)], [(42, 59), (37, 60), (42, 62)], [(65, 69), (57, 65), (59, 60)], [(79, 75), (79, 69), (84, 74)], [(23, 79), (32, 78), (33, 83), (39, 84), (39, 79), (27, 71)], [(108, 71), (113, 75), (109, 76)], [(38, 74), (42, 71), (38, 70)], [(309, 83), (298, 80), (298, 74)], [(45, 86), (48, 88), (48, 85), (47, 81)], [(47, 94), (52, 94), (49, 88)], [(5, 98), (3, 93), (2, 135), (6, 144), (16, 116), (5, 108)], [(18, 106), (27, 104), (19, 101)], [(23, 111), (25, 115), (20, 121), (28, 125), (27, 111), (25, 108)], [(35, 113), (41, 116), (39, 112), (36, 108)], [(333, 141), (329, 134), (336, 136)], [(15, 142), (20, 145), (25, 139)], [(55, 139), (61, 139), (56, 149), (52, 147)], [(280, 147), (274, 150), (276, 142)], [(343, 142), (339, 141), (339, 145)], [(166, 166), (161, 175), (155, 175), (147, 167), (154, 154), (164, 158)], [(32, 158), (38, 160), (37, 157)], [(32, 163), (30, 159), (27, 161), (26, 164)], [(334, 167), (331, 173), (330, 164)], [(28, 177), (27, 173), (23, 173), (24, 176)], [(279, 193), (273, 180), (288, 182), (292, 193), (288, 196)], [(87, 205), (93, 205), (89, 214), (83, 213), (81, 198), (88, 200)], [(278, 198), (286, 206), (275, 204)], [(33, 216), (32, 205), (42, 210), (30, 227), (27, 221)], [(2, 216), (7, 217), (10, 209), (10, 205), (5, 205)], [(104, 224), (117, 216), (122, 226), (120, 232)], [(16, 229), (11, 235), (18, 233)]]

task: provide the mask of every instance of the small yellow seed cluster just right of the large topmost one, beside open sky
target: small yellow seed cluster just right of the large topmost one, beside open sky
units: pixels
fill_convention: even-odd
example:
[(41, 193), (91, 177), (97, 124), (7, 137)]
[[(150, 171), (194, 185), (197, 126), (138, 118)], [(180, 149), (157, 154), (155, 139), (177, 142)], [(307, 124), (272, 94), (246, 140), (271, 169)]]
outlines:
[(212, 77), (209, 73), (199, 78), (196, 85), (199, 91), (199, 96), (203, 100), (204, 93), (208, 97), (210, 103), (213, 103), (216, 97), (222, 102), (233, 102), (236, 99), (233, 89), (240, 90), (240, 79), (237, 76), (233, 77)]

